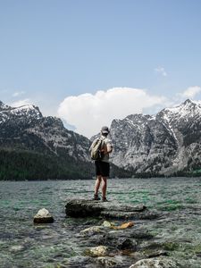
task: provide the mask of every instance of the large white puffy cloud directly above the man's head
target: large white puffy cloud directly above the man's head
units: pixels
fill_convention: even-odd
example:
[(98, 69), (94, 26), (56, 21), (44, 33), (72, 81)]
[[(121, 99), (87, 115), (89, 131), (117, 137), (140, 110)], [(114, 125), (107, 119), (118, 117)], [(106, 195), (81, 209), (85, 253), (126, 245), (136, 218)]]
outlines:
[(151, 96), (144, 89), (111, 88), (80, 96), (68, 96), (59, 105), (58, 115), (76, 131), (90, 138), (113, 119), (122, 119), (131, 113), (143, 113), (147, 108), (162, 105), (163, 96)]

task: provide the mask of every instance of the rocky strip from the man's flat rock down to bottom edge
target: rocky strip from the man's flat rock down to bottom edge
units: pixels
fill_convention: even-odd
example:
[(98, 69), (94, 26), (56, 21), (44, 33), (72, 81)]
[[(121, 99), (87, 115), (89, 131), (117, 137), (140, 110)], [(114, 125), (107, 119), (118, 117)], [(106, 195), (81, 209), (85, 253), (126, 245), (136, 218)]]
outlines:
[(76, 234), (83, 252), (71, 257), (68, 267), (184, 267), (172, 258), (173, 242), (162, 243), (147, 228), (147, 222), (163, 221), (166, 214), (150, 211), (145, 205), (84, 199), (68, 200), (65, 211), (67, 217), (86, 219)]

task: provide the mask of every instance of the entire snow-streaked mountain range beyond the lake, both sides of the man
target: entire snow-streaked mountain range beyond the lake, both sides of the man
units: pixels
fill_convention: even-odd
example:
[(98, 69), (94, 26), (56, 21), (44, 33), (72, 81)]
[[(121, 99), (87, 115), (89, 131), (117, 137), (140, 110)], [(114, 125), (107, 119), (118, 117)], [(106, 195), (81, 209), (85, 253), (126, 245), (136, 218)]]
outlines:
[[(111, 124), (112, 177), (201, 174), (201, 105), (191, 100)], [(37, 106), (0, 102), (0, 180), (89, 179), (91, 141)]]

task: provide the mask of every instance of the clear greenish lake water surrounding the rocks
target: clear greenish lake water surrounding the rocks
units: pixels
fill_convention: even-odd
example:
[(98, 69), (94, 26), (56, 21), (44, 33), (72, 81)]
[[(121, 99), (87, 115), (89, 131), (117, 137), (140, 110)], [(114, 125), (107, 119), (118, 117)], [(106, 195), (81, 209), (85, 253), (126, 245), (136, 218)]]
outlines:
[[(71, 257), (82, 255), (76, 233), (85, 222), (66, 218), (64, 206), (67, 198), (91, 198), (94, 182), (0, 181), (0, 267), (67, 267)], [(167, 213), (142, 224), (157, 241), (175, 247), (169, 248), (172, 257), (184, 266), (201, 267), (201, 178), (109, 180), (108, 198)], [(34, 225), (43, 207), (55, 221)]]

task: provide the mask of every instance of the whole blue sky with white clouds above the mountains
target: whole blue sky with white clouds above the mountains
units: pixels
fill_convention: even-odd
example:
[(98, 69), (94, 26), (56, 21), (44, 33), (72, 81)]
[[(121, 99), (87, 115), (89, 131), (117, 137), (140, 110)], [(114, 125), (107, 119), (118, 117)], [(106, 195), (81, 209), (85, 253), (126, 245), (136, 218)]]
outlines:
[(201, 99), (199, 0), (0, 0), (0, 100), (90, 138)]

